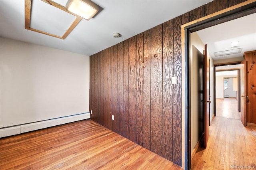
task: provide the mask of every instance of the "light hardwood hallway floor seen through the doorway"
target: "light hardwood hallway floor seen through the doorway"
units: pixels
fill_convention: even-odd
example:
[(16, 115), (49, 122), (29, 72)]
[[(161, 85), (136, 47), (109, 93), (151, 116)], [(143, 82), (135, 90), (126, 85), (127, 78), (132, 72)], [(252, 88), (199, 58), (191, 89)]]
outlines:
[(208, 145), (198, 148), (192, 169), (256, 169), (256, 127), (242, 125), (236, 99), (216, 99), (216, 117), (209, 132)]

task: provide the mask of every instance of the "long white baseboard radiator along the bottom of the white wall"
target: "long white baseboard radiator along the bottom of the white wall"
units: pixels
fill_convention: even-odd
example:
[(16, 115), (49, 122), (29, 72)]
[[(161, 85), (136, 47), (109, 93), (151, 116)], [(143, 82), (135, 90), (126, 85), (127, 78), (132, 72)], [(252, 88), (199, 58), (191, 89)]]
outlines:
[(53, 127), (57, 125), (62, 125), (65, 123), (71, 123), (76, 121), (81, 121), (84, 119), (90, 119), (90, 112), (82, 113), (78, 115), (60, 117), (56, 119), (49, 119), (46, 121), (34, 122), (34, 123), (27, 123), (24, 125), (17, 125), (13, 127), (6, 127), (0, 129), (0, 137), (12, 136), (15, 134), (20, 134), (24, 132), (30, 132), (33, 130), (38, 130), (47, 127)]

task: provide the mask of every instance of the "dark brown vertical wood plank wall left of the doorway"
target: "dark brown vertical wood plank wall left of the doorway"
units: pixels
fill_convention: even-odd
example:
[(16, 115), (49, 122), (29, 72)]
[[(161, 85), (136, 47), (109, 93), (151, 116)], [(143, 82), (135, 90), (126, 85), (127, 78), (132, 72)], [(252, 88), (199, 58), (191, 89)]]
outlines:
[(90, 56), (91, 119), (181, 166), (181, 25), (241, 2), (215, 0)]

